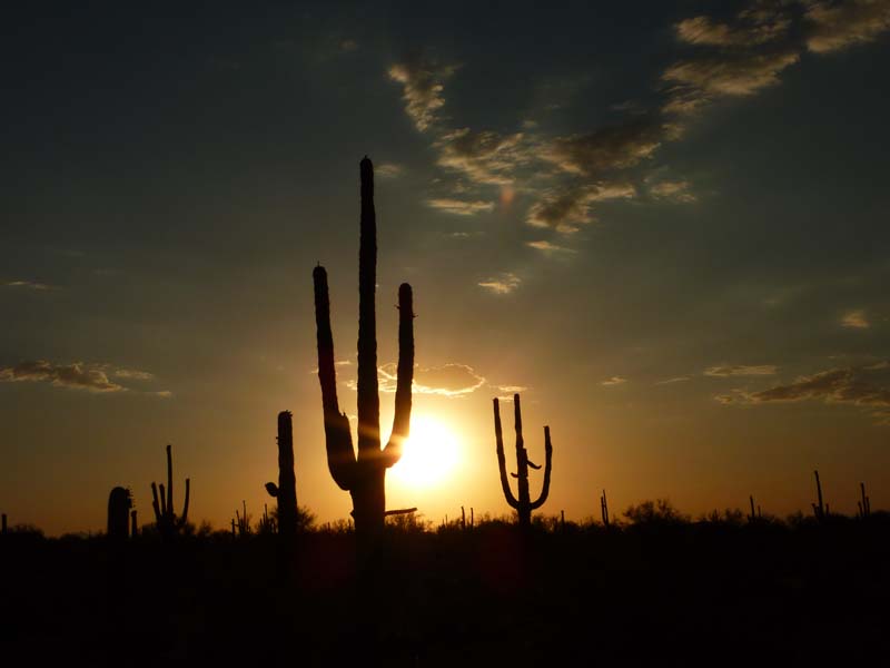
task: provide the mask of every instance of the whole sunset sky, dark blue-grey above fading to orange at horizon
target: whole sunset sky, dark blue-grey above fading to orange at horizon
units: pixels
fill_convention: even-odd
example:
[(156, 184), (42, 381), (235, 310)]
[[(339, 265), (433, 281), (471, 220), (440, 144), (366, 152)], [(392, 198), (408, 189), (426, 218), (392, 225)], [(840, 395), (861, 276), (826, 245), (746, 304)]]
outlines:
[(890, 1), (48, 2), (0, 30), (11, 523), (100, 530), (115, 485), (150, 521), (167, 443), (190, 519), (256, 517), (281, 410), (298, 502), (348, 517), (312, 269), (354, 415), (365, 155), (383, 432), (403, 281), (434, 425), (389, 508), (506, 514), (514, 392), (533, 461), (552, 432), (544, 513), (784, 515), (814, 469), (832, 509), (860, 481), (890, 507)]

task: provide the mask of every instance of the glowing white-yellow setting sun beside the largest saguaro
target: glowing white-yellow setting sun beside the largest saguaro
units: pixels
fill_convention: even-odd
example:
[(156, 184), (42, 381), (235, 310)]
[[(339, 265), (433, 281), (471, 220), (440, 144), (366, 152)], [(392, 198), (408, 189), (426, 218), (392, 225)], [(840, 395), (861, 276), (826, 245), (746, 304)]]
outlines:
[(457, 463), (457, 439), (447, 426), (426, 415), (411, 419), (411, 438), (390, 474), (403, 484), (428, 488), (445, 481)]

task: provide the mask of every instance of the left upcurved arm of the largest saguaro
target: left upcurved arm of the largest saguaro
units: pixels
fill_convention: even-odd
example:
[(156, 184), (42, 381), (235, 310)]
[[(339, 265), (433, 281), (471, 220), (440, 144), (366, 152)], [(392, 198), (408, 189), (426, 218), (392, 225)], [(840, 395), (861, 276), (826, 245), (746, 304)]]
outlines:
[(330, 331), (330, 301), (325, 267), (313, 269), (315, 285), (315, 323), (318, 343), (318, 381), (325, 419), (325, 444), (330, 477), (342, 490), (349, 490), (355, 475), (355, 451), (349, 420), (337, 402), (337, 374), (334, 369), (334, 335)]

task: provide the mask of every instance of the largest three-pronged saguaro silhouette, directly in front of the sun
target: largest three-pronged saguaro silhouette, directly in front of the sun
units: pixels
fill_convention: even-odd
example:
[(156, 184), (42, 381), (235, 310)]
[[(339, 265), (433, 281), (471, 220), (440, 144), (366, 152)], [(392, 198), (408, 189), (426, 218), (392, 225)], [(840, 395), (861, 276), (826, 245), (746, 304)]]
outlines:
[(414, 377), (414, 311), (411, 285), (398, 288), (398, 375), (395, 415), (389, 442), (380, 449), (380, 402), (377, 395), (377, 325), (374, 296), (377, 274), (377, 222), (374, 210), (374, 166), (365, 156), (362, 178), (360, 242), (358, 250), (358, 454), (353, 450), (349, 420), (337, 402), (334, 336), (327, 272), (313, 271), (315, 321), (318, 340), (318, 380), (325, 419), (325, 443), (330, 475), (353, 498), (353, 517), (360, 540), (383, 530), (386, 514), (386, 469), (402, 456), (411, 424), (411, 386)]

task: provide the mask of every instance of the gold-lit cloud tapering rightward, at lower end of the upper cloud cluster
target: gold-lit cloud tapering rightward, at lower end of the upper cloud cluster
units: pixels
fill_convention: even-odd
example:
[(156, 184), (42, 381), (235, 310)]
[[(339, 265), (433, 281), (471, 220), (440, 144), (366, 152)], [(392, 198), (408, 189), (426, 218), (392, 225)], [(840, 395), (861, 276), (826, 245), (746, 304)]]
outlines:
[(576, 232), (578, 226), (591, 223), (591, 205), (607, 199), (627, 199), (636, 194), (629, 184), (572, 184), (552, 188), (534, 203), (526, 217), (533, 227), (550, 227), (562, 233)]

